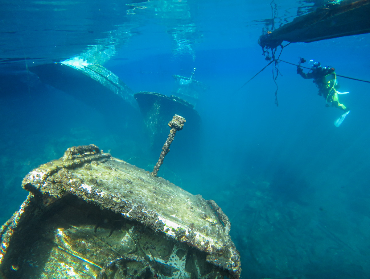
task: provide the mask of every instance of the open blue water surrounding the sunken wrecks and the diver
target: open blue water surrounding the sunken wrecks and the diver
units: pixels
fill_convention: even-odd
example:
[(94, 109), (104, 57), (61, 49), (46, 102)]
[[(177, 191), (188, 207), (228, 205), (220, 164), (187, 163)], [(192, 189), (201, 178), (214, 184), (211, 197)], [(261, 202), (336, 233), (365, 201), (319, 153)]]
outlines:
[[(170, 95), (171, 75), (195, 67), (209, 86), (195, 107), (200, 131), (185, 123), (159, 175), (222, 207), (243, 278), (370, 278), (370, 85), (339, 78), (351, 112), (338, 128), (342, 112), (325, 107), (290, 64), (279, 64), (279, 106), (271, 66), (239, 89), (268, 63), (257, 40), (270, 0), (153, 0), (135, 10), (129, 1), (1, 2), (1, 222), (27, 196), (22, 178), (70, 146), (94, 143), (149, 171), (157, 161), (162, 143), (150, 144), (138, 109), (92, 106), (32, 74), (32, 66), (108, 44), (102, 65), (134, 92)], [(307, 4), (275, 3), (282, 22)], [(369, 46), (369, 34), (293, 43), (280, 59), (314, 59), (369, 80)]]

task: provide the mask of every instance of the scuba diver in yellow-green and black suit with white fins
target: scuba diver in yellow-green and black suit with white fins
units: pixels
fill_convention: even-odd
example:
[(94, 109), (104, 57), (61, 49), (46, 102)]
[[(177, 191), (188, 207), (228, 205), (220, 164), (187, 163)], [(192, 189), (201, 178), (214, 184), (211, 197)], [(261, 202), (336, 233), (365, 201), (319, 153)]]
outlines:
[[(338, 83), (334, 68), (330, 66), (322, 67), (320, 66), (320, 62), (314, 62), (309, 72), (303, 73), (303, 69), (300, 64), (304, 62), (306, 62), (306, 60), (303, 58), (299, 60), (297, 74), (302, 76), (304, 79), (313, 79), (313, 82), (319, 89), (319, 96), (323, 96), (326, 100), (326, 107), (329, 107), (331, 104), (332, 107), (337, 107), (344, 111), (344, 113), (334, 122), (334, 125), (339, 127), (350, 110), (344, 106), (344, 104), (339, 103), (338, 95), (347, 94), (349, 92), (339, 92), (336, 90)], [(313, 62), (313, 60), (310, 60), (310, 62)]]

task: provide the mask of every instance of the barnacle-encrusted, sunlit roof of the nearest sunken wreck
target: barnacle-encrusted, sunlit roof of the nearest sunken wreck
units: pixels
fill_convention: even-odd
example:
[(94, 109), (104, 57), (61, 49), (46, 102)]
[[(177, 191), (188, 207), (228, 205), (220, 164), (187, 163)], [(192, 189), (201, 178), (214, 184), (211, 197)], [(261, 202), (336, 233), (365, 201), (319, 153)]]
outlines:
[[(162, 232), (205, 252), (209, 263), (228, 271), (232, 278), (240, 276), (239, 253), (228, 235), (227, 216), (215, 202), (206, 202), (161, 177), (152, 177), (145, 170), (102, 153), (97, 146), (68, 149), (61, 159), (28, 173), (23, 187), (31, 196), (41, 196), (45, 208), (73, 196), (107, 209), (153, 233)], [(18, 219), (16, 223), (8, 221), (11, 231), (3, 229), (2, 240), (7, 239), (3, 246), (9, 245), (9, 235), (17, 230)], [(6, 252), (6, 248), (1, 251), (2, 255)]]

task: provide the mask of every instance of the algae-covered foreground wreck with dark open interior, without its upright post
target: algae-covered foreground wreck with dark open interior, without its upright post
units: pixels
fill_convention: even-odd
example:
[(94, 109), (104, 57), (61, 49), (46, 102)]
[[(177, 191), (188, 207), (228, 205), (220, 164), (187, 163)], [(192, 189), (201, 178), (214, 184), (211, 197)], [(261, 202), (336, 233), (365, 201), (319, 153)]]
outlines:
[(67, 149), (23, 180), (2, 226), (4, 278), (239, 278), (228, 217), (95, 146)]

